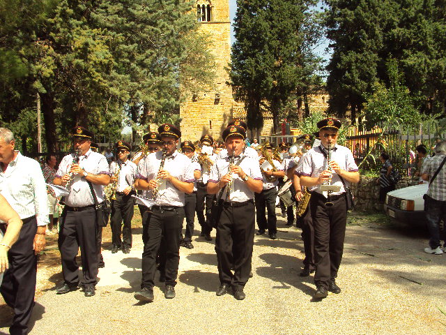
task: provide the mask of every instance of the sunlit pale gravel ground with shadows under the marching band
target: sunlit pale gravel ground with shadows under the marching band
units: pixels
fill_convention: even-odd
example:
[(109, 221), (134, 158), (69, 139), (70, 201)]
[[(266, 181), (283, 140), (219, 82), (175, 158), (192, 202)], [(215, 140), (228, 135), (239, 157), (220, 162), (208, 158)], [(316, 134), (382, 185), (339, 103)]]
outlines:
[[(381, 216), (353, 216), (347, 227), (338, 285), (342, 292), (313, 301), (312, 276), (301, 278), (300, 230), (279, 217), (277, 240), (255, 237), (254, 277), (243, 301), (215, 296), (214, 241), (194, 238), (180, 249), (176, 298), (133, 297), (141, 280), (141, 235), (128, 255), (103, 252), (95, 297), (75, 291), (38, 297), (30, 334), (446, 334), (446, 255), (422, 250), (426, 237), (382, 225)], [(109, 229), (109, 228), (107, 228)], [(215, 233), (215, 232), (214, 232)], [(41, 276), (39, 276), (41, 278)], [(50, 281), (56, 281), (52, 276)], [(7, 333), (7, 324), (0, 325)]]

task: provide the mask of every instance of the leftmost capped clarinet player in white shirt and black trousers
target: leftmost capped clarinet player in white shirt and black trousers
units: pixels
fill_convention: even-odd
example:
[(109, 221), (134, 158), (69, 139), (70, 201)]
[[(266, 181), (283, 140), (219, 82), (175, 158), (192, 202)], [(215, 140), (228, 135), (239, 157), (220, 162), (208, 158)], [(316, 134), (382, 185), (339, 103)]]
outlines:
[(93, 133), (86, 128), (76, 126), (73, 129), (73, 145), (77, 154), (62, 158), (54, 184), (66, 186), (70, 194), (65, 197), (65, 208), (61, 218), (59, 232), (59, 250), (61, 251), (63, 284), (56, 293), (63, 295), (76, 290), (79, 284), (79, 265), (76, 255), (81, 249), (81, 282), (86, 297), (95, 295), (98, 283), (98, 245), (95, 201), (91, 193), (92, 184), (98, 203), (104, 201), (105, 185), (110, 182), (107, 158), (90, 149)]

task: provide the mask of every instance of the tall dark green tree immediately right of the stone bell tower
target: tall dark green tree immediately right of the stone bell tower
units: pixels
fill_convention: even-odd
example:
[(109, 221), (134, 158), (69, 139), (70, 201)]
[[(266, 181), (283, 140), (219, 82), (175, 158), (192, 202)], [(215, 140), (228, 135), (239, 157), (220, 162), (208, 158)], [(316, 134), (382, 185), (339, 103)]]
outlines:
[(263, 110), (270, 110), (277, 131), (281, 113), (314, 81), (318, 63), (311, 46), (319, 30), (309, 12), (312, 4), (237, 1), (230, 77), (236, 98), (245, 103), (251, 129), (261, 128)]

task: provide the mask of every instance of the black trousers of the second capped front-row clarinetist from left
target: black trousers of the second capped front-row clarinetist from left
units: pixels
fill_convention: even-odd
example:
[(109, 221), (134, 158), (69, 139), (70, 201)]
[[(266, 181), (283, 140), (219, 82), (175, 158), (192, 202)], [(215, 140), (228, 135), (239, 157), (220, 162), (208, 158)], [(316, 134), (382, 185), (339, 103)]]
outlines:
[(176, 285), (178, 264), (180, 262), (180, 229), (184, 218), (184, 207), (167, 211), (152, 209), (148, 223), (148, 240), (142, 253), (141, 288), (153, 288), (155, 285), (156, 256), (164, 237), (164, 274), (166, 285)]

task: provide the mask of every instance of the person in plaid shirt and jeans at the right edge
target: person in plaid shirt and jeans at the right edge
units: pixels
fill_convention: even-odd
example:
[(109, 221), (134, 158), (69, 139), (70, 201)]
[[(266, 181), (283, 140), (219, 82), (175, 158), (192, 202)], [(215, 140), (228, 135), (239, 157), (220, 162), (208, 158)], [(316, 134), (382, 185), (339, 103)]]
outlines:
[[(424, 206), (431, 238), (429, 247), (424, 248), (424, 252), (441, 255), (446, 251), (446, 238), (440, 236), (440, 220), (446, 217), (446, 167), (443, 165), (440, 169), (440, 166), (445, 160), (446, 141), (437, 143), (434, 152), (436, 155), (422, 166), (421, 171), (422, 179), (429, 181), (429, 189), (424, 197)], [(440, 170), (436, 178), (432, 180), (438, 169)], [(443, 250), (440, 239), (443, 239)]]

